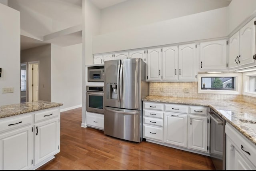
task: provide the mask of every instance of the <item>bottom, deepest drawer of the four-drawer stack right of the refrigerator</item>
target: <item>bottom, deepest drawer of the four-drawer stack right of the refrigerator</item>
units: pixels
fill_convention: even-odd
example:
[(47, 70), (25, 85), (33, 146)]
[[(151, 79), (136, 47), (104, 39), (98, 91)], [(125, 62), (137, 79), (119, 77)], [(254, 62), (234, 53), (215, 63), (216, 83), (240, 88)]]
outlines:
[(148, 125), (143, 125), (144, 138), (156, 139), (163, 141), (163, 129)]

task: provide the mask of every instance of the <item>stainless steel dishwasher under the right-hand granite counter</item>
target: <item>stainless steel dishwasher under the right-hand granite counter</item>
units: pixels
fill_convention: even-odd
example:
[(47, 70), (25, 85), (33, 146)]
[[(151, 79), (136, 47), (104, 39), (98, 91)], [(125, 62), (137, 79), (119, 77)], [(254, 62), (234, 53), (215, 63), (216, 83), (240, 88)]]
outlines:
[(210, 157), (216, 170), (226, 170), (226, 121), (210, 109)]

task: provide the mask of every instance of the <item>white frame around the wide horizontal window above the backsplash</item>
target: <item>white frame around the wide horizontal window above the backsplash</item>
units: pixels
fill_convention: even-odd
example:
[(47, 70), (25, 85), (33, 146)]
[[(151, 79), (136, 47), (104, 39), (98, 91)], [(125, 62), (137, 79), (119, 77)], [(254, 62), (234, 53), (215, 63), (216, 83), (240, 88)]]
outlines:
[[(216, 90), (216, 89), (201, 89), (202, 78), (204, 77), (234, 77), (234, 90)], [(242, 73), (212, 73), (212, 74), (200, 74), (198, 73), (198, 93), (210, 93), (210, 94), (242, 94)]]

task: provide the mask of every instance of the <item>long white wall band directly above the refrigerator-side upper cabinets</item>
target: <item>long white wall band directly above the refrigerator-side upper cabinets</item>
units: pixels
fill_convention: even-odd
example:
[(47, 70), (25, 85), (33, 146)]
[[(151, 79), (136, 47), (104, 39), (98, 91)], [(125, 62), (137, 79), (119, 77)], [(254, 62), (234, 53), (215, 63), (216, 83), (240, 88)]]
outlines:
[(93, 54), (227, 36), (228, 7), (94, 36)]

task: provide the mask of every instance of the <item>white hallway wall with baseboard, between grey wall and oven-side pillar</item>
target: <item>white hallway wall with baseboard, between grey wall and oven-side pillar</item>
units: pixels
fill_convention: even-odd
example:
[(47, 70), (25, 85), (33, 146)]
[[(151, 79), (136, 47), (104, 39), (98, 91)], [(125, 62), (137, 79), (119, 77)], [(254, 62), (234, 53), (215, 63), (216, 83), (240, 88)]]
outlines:
[(82, 106), (82, 44), (60, 47), (52, 44), (52, 102), (63, 103), (61, 111)]

